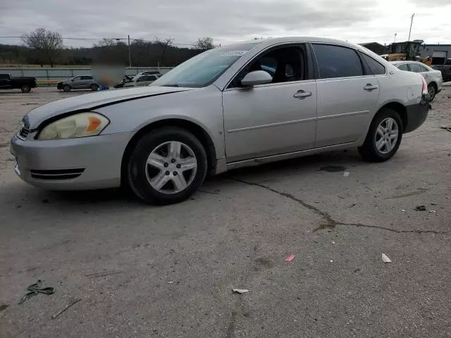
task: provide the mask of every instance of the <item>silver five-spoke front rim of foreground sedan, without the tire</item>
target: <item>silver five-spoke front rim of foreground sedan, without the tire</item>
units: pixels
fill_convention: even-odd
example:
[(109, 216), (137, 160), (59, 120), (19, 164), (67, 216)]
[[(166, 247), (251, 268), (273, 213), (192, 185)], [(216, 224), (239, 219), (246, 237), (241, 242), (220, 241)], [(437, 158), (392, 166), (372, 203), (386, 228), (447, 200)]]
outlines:
[(162, 194), (176, 194), (194, 180), (197, 158), (183, 142), (164, 142), (149, 154), (144, 169), (152, 188)]

